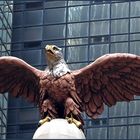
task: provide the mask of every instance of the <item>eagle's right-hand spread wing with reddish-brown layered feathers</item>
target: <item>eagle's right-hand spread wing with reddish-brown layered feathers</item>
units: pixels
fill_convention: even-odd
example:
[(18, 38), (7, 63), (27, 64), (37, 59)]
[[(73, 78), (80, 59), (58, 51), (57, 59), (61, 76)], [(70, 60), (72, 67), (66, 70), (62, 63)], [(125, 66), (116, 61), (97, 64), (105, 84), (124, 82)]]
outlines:
[(83, 110), (94, 119), (103, 112), (104, 104), (111, 107), (140, 95), (140, 56), (104, 55), (73, 74)]

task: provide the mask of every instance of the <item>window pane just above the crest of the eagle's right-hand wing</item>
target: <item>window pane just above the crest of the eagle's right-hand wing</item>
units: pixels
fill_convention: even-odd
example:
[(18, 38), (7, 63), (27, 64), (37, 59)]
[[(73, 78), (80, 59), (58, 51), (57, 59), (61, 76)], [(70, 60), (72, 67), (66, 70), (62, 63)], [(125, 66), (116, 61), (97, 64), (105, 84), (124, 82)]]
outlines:
[(111, 53), (127, 53), (128, 52), (128, 43), (113, 43), (110, 48)]

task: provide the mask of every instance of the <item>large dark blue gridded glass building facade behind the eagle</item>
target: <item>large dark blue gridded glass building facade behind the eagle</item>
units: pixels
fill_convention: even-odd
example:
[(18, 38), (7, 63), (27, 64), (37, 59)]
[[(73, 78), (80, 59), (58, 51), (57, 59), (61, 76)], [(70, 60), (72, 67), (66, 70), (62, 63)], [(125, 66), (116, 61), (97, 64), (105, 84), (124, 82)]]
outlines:
[[(44, 47), (62, 48), (71, 69), (88, 65), (106, 53), (140, 55), (140, 1), (15, 1), (11, 54), (39, 69), (46, 67)], [(85, 114), (88, 139), (139, 139), (140, 97), (105, 106), (91, 120)], [(32, 138), (38, 108), (9, 97), (7, 138)]]

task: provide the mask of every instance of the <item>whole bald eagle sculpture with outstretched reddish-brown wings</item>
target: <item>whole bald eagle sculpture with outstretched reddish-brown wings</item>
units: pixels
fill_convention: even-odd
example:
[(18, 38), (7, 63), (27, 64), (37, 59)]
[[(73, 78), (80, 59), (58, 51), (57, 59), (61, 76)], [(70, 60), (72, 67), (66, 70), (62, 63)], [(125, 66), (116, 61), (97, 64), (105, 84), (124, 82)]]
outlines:
[(66, 118), (80, 128), (82, 112), (96, 119), (104, 105), (111, 107), (140, 95), (140, 56), (106, 54), (71, 71), (59, 47), (47, 45), (45, 54), (48, 67), (44, 71), (16, 57), (0, 57), (0, 93), (9, 92), (36, 103), (41, 113), (40, 125)]

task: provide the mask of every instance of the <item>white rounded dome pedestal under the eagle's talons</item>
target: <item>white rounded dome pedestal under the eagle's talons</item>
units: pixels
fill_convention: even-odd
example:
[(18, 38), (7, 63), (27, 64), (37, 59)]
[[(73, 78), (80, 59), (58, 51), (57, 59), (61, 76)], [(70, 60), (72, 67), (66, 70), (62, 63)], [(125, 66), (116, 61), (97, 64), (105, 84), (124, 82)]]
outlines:
[(66, 119), (53, 119), (40, 126), (35, 131), (33, 139), (85, 139), (85, 135)]

